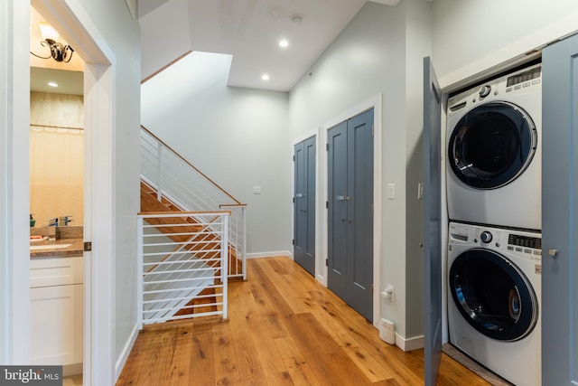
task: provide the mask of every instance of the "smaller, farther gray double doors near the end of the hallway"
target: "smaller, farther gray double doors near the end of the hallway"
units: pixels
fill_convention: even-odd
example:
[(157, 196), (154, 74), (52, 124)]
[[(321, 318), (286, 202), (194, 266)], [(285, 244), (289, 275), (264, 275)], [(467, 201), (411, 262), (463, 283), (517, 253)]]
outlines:
[(294, 146), (294, 259), (315, 276), (315, 137)]

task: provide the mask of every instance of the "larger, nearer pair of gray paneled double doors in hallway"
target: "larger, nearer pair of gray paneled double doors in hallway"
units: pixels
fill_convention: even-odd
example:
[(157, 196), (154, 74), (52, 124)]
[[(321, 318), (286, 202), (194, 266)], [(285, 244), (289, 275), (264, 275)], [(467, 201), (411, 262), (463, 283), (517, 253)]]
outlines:
[(373, 109), (328, 137), (328, 287), (372, 321)]

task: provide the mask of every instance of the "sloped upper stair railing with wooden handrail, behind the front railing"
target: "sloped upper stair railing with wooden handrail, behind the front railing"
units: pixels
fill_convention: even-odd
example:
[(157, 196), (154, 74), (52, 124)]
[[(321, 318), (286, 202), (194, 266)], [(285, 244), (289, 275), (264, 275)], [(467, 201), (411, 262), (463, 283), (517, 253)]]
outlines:
[(183, 211), (230, 211), (228, 278), (247, 279), (247, 205), (141, 126), (141, 178)]

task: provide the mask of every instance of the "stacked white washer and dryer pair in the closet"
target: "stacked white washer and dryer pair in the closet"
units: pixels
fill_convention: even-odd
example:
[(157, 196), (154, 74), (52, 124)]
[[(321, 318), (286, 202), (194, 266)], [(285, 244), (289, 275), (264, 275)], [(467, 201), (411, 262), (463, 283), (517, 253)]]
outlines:
[(541, 65), (448, 100), (450, 342), (541, 384)]

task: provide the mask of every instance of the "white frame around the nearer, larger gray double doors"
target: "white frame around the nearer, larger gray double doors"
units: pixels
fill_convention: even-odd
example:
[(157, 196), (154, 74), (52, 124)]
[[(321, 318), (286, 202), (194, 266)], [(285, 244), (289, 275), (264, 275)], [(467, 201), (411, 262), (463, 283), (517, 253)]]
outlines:
[[(318, 197), (321, 198), (320, 205), (318, 208), (322, 208), (322, 234), (321, 239), (318, 240), (318, 245), (322, 247), (322, 253), (318, 256), (316, 260), (316, 278), (323, 286), (327, 287), (327, 275), (328, 267), (325, 264), (325, 260), (329, 258), (328, 256), (328, 221), (329, 214), (325, 207), (325, 203), (329, 201), (327, 184), (329, 181), (329, 165), (327, 164), (327, 152), (326, 144), (328, 140), (328, 131), (331, 127), (340, 124), (350, 118), (358, 116), (359, 114), (368, 111), (373, 108), (373, 126), (374, 126), (374, 136), (373, 136), (373, 318), (371, 323), (374, 326), (378, 326), (380, 311), (379, 311), (379, 301), (380, 301), (380, 288), (381, 288), (381, 100), (382, 95), (379, 93), (371, 99), (367, 99), (359, 105), (356, 105), (347, 111), (341, 113), (340, 115), (331, 118), (325, 122), (320, 127), (320, 135), (318, 145), (318, 157), (317, 162), (319, 164), (319, 171), (321, 172), (318, 176), (318, 186), (317, 191)], [(323, 151), (322, 151), (323, 150)]]

